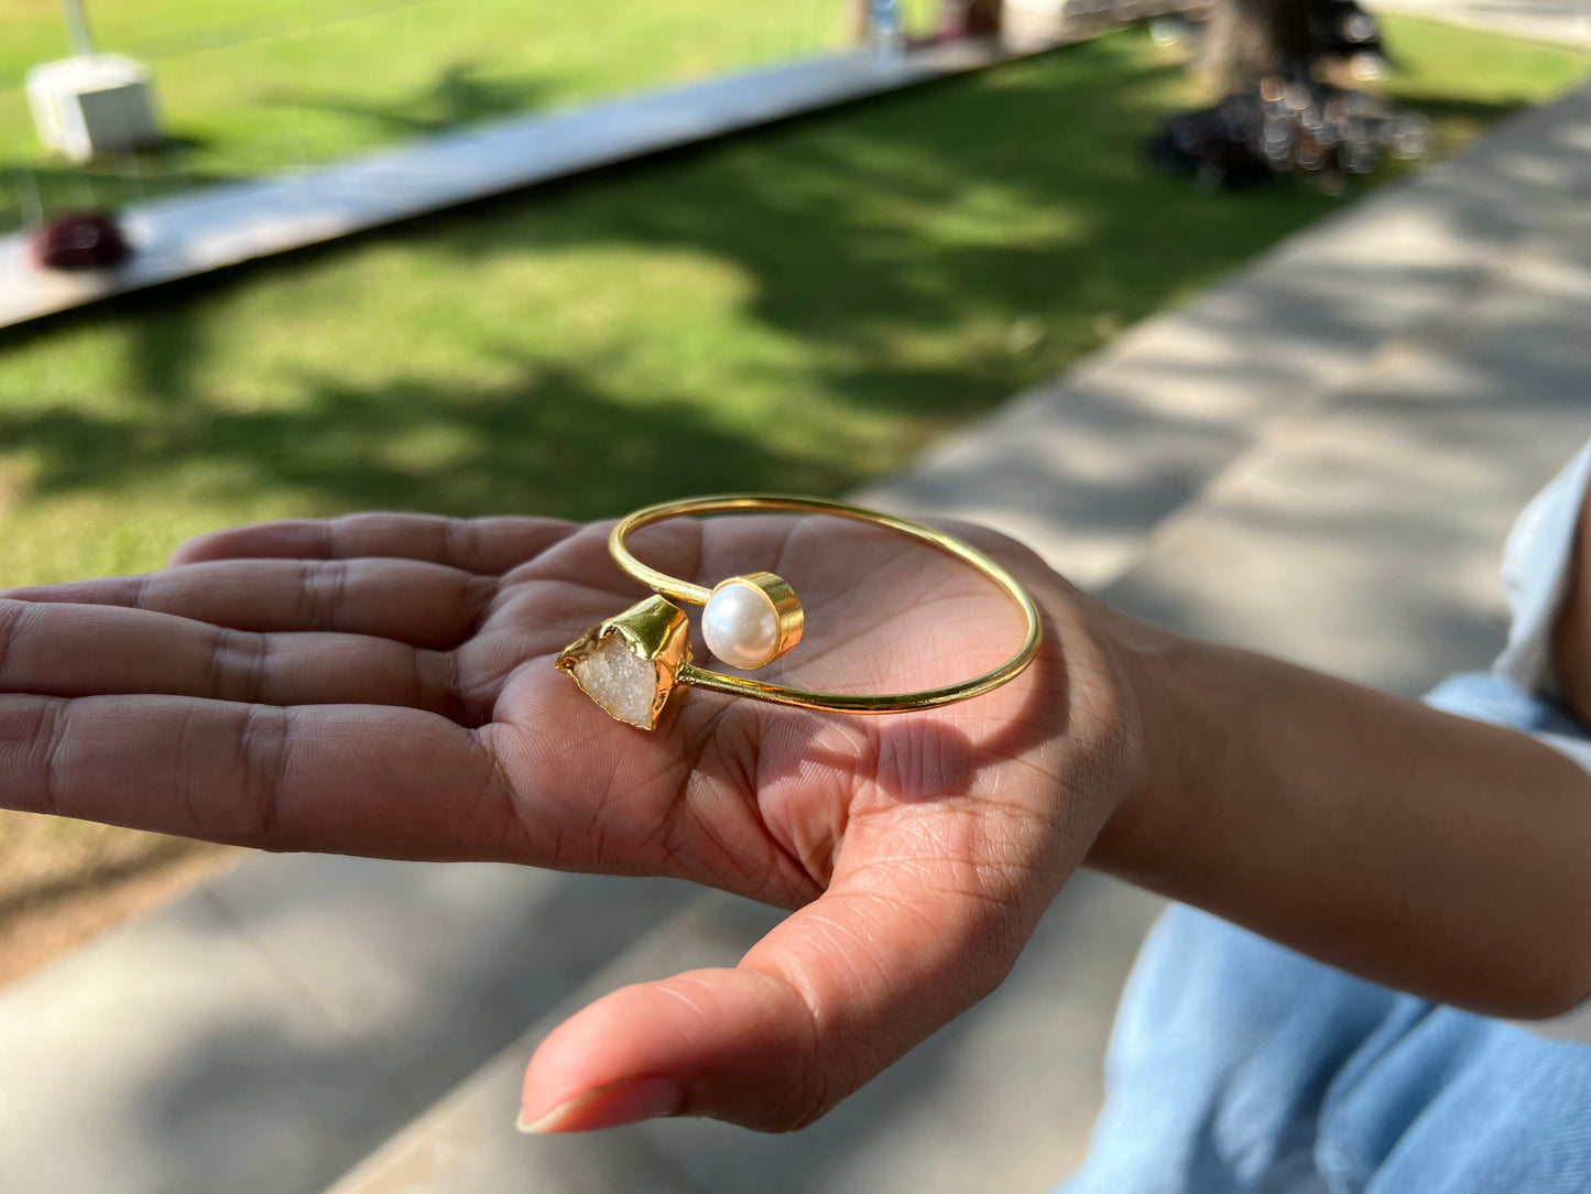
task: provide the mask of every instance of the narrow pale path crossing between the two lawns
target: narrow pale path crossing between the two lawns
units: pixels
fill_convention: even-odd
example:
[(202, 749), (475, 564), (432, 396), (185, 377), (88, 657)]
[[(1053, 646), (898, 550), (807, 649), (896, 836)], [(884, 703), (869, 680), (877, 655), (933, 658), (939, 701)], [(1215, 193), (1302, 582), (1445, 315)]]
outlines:
[(134, 256), (118, 269), (35, 269), (27, 234), (0, 236), (0, 326), (1039, 49), (966, 41), (912, 54), (824, 54), (550, 116), (458, 129), (336, 166), (130, 204), (119, 215)]

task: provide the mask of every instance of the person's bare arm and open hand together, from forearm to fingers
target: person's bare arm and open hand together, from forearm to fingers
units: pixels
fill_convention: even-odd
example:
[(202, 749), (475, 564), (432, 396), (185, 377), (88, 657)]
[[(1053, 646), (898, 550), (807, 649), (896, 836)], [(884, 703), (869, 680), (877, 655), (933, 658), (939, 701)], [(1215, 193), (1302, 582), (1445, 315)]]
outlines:
[[(606, 525), (369, 514), (220, 532), (142, 578), (0, 600), (0, 804), (270, 850), (667, 874), (792, 909), (733, 970), (619, 990), (530, 1060), (523, 1122), (810, 1122), (1006, 976), (1087, 863), (1378, 981), (1548, 1014), (1591, 990), (1591, 782), (1489, 726), (1123, 618), (1025, 548), (1044, 650), (947, 708), (692, 691), (655, 732), (554, 667), (646, 594)], [(632, 546), (807, 610), (764, 675), (910, 691), (1021, 618), (832, 519)], [(700, 653), (698, 643), (698, 653)]]

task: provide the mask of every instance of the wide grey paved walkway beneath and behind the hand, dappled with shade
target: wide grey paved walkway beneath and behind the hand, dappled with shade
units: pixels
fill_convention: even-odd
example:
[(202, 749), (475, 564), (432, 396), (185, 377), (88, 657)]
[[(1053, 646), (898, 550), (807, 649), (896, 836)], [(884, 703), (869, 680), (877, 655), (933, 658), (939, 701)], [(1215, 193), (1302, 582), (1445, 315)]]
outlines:
[[(1403, 693), (1500, 642), (1497, 548), (1591, 435), (1591, 91), (1383, 191), (869, 498)], [(796, 1137), (512, 1130), (571, 1006), (772, 914), (644, 880), (256, 858), (0, 993), (0, 1189), (1042, 1191), (1155, 901), (1079, 876), (1012, 979)], [(531, 1025), (528, 1033), (525, 1025)]]

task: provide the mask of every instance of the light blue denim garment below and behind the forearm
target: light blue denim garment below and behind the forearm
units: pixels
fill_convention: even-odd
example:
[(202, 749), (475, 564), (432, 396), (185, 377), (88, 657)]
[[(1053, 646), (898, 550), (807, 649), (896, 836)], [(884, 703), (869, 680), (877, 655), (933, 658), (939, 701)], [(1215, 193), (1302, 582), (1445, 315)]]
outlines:
[[(1430, 704), (1585, 736), (1497, 675)], [(1378, 987), (1174, 906), (1064, 1194), (1591, 1194), (1591, 1048)]]

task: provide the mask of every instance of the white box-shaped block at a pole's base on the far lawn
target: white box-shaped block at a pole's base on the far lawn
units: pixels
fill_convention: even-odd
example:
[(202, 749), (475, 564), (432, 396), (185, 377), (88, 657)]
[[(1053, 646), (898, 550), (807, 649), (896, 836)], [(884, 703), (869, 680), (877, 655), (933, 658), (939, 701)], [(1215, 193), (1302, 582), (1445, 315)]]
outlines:
[(75, 162), (161, 142), (150, 72), (121, 54), (33, 67), (27, 102), (38, 139)]

